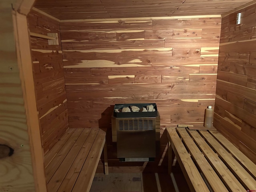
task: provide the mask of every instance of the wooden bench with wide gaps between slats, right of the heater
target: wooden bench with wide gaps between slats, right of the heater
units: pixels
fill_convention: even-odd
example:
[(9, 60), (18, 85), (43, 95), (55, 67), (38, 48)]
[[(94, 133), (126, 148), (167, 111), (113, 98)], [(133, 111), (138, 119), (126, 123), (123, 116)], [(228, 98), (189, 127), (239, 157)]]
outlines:
[(256, 190), (256, 165), (217, 130), (166, 130), (168, 173), (174, 152), (191, 191)]

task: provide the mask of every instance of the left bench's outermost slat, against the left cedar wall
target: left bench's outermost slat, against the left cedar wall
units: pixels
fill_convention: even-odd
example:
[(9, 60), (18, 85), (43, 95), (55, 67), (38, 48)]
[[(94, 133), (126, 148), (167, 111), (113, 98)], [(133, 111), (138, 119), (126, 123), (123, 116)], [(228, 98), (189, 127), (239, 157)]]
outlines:
[(68, 138), (73, 134), (75, 129), (68, 129), (64, 135), (58, 140), (58, 142), (51, 148), (49, 152), (47, 152), (44, 156), (44, 167), (47, 167), (52, 159), (56, 156), (56, 154), (60, 151), (62, 146), (67, 142)]

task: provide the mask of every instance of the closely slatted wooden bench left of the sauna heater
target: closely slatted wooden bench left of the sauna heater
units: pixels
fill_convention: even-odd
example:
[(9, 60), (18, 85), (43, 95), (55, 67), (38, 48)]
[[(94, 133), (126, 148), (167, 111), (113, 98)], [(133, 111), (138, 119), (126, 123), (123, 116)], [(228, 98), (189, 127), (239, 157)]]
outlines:
[(108, 174), (106, 132), (68, 129), (44, 159), (48, 192), (89, 192), (102, 150)]

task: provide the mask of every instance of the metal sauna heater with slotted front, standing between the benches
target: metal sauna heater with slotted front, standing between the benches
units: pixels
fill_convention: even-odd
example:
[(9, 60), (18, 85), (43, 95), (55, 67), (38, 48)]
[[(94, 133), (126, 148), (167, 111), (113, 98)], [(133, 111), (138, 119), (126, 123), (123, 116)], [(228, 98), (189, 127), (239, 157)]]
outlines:
[[(147, 104), (117, 104), (115, 108), (130, 105)], [(112, 140), (116, 142), (120, 161), (154, 161), (160, 140), (160, 116), (156, 104), (154, 108), (155, 112), (113, 113)]]

